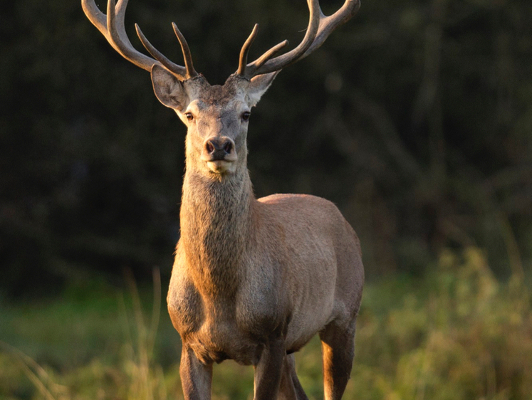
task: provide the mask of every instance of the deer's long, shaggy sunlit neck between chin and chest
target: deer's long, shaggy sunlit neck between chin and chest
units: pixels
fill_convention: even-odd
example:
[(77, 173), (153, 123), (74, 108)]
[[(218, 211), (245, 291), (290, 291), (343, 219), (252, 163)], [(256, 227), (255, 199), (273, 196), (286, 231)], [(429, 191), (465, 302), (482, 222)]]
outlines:
[(181, 241), (195, 283), (210, 293), (234, 293), (252, 231), (254, 202), (247, 169), (222, 179), (184, 176)]

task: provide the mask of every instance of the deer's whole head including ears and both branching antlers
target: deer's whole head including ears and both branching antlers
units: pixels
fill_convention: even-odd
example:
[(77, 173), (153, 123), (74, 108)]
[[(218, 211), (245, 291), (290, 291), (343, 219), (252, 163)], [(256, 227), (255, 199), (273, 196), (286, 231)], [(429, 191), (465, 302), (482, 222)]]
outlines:
[(249, 48), (258, 25), (240, 52), (239, 67), (224, 85), (209, 85), (194, 70), (187, 41), (172, 23), (184, 56), (184, 66), (162, 55), (135, 24), (137, 35), (150, 56), (137, 51), (125, 33), (127, 0), (108, 0), (107, 15), (94, 0), (82, 0), (88, 19), (103, 33), (113, 48), (125, 59), (150, 71), (153, 89), (163, 105), (172, 108), (187, 125), (187, 170), (208, 177), (221, 177), (246, 169), (246, 135), (251, 108), (259, 102), (281, 69), (308, 56), (321, 46), (329, 34), (348, 21), (360, 8), (360, 1), (345, 0), (331, 16), (324, 16), (318, 0), (308, 0), (310, 19), (303, 41), (287, 53), (276, 53), (288, 45), (278, 43), (262, 56), (247, 63)]

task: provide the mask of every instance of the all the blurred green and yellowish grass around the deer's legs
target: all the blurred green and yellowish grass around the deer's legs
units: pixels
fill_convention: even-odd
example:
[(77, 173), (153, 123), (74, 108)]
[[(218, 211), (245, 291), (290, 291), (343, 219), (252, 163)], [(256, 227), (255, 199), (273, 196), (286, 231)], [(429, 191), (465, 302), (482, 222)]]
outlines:
[[(179, 337), (160, 285), (71, 288), (46, 304), (1, 304), (0, 399), (182, 399)], [(155, 294), (154, 294), (155, 293)], [(9, 343), (9, 344), (8, 344)], [(521, 400), (532, 393), (531, 300), (479, 249), (442, 253), (424, 278), (366, 285), (344, 399)], [(317, 339), (296, 355), (323, 398)], [(214, 368), (214, 399), (251, 399), (253, 369)]]

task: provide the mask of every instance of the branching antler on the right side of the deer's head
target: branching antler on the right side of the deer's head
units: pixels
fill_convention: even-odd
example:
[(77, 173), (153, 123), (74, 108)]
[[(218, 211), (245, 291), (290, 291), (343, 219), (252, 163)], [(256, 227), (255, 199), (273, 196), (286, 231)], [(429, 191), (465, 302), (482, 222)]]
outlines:
[(360, 9), (360, 0), (345, 0), (345, 3), (338, 11), (333, 15), (325, 16), (321, 11), (319, 0), (307, 0), (307, 2), (310, 18), (303, 41), (296, 48), (288, 51), (288, 53), (272, 58), (281, 48), (288, 45), (288, 41), (283, 41), (266, 51), (266, 53), (254, 60), (253, 63), (246, 64), (249, 48), (257, 33), (258, 26), (255, 25), (251, 35), (246, 40), (246, 43), (244, 43), (244, 46), (242, 46), (239, 68), (236, 70), (237, 75), (251, 79), (255, 75), (278, 71), (296, 63), (296, 61), (305, 58), (320, 47), (335, 28), (349, 21), (357, 13), (358, 9)]

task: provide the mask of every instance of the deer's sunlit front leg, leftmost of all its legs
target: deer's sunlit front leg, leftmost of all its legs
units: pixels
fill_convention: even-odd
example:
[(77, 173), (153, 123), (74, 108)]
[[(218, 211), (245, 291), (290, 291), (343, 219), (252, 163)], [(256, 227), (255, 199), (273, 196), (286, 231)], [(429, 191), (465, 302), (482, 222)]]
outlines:
[(184, 400), (209, 400), (212, 386), (212, 364), (203, 364), (190, 347), (183, 344), (179, 375)]

